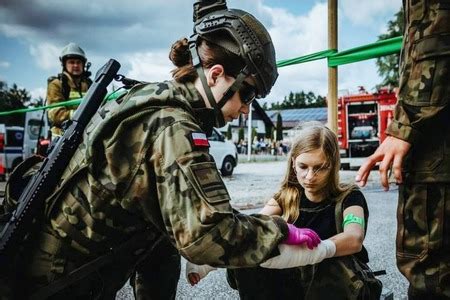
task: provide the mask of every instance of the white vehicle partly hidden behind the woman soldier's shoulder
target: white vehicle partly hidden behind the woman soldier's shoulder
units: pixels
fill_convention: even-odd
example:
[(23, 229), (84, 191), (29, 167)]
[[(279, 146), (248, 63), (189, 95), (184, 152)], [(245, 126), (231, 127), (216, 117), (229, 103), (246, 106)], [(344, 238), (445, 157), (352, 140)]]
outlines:
[(216, 162), (217, 169), (223, 176), (233, 174), (234, 168), (238, 163), (237, 148), (233, 142), (225, 140), (225, 137), (219, 130), (213, 130), (209, 140), (209, 153)]

